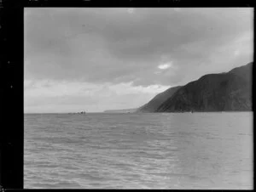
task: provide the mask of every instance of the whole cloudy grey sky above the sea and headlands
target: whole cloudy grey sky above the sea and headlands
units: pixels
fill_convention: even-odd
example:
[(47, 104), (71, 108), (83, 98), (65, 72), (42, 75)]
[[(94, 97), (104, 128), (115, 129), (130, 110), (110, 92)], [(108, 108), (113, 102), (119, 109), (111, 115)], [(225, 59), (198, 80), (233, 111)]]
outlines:
[(25, 113), (137, 108), (253, 61), (253, 8), (25, 8)]

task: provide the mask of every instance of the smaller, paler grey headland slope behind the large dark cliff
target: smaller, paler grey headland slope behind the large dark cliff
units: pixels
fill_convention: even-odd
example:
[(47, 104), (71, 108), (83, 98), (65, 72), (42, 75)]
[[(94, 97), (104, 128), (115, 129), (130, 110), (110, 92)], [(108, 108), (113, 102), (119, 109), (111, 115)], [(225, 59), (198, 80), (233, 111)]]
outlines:
[(160, 104), (165, 102), (166, 99), (169, 99), (179, 88), (181, 88), (181, 86), (168, 88), (165, 92), (157, 94), (147, 104), (141, 106), (137, 112), (154, 112), (159, 108)]

